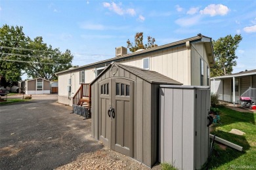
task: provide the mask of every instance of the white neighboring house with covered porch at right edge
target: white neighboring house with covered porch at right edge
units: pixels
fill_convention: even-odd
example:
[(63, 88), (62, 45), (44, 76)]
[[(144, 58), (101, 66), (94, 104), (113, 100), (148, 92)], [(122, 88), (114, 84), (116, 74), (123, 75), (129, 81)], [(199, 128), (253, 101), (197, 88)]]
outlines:
[(241, 96), (256, 100), (256, 69), (211, 78), (211, 92), (219, 94), (220, 100), (233, 103), (240, 103)]

